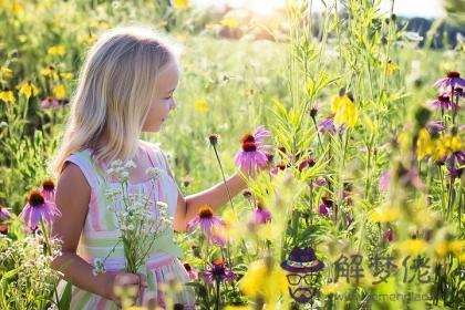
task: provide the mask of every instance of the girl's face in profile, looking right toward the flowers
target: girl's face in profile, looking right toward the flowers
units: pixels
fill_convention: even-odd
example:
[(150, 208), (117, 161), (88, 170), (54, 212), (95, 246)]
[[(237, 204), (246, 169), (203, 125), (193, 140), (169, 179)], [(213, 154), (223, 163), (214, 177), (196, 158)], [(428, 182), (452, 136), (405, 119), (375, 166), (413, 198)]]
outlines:
[(177, 64), (173, 62), (158, 76), (158, 82), (155, 85), (157, 89), (157, 97), (151, 104), (147, 118), (142, 127), (143, 132), (158, 132), (162, 124), (168, 117), (169, 112), (176, 107), (173, 93), (176, 90), (178, 80), (179, 69), (177, 68)]

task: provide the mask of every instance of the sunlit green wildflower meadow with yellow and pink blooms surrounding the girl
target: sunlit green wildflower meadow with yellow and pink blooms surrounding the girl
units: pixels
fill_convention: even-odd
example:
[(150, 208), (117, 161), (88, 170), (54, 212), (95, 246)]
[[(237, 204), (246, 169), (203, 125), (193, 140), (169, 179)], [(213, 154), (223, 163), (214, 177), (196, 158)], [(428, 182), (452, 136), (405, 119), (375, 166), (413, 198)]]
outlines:
[[(197, 309), (464, 309), (465, 34), (433, 44), (443, 24), (465, 29), (463, 6), (444, 1), (446, 17), (421, 35), (394, 14), (401, 1), (317, 11), (290, 0), (265, 14), (188, 0), (0, 0), (0, 309), (71, 309), (72, 286), (53, 268), (50, 163), (86, 51), (131, 24), (166, 37), (180, 63), (177, 108), (142, 140), (165, 152), (184, 195), (234, 172), (248, 185), (174, 235)], [(163, 202), (125, 192), (131, 168), (114, 163), (121, 187), (107, 199), (125, 197), (112, 210), (136, 271), (173, 220)], [(146, 173), (156, 186), (159, 172)], [(94, 265), (105, 272), (105, 256)], [(164, 307), (121, 307), (183, 309), (172, 300), (182, 287), (161, 288)]]

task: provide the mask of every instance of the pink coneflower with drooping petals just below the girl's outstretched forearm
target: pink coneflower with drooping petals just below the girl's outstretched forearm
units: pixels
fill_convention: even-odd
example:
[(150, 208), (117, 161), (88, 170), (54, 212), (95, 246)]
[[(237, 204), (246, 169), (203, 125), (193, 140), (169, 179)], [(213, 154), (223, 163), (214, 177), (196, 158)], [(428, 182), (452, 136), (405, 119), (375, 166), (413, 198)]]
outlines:
[(187, 223), (187, 231), (193, 231), (197, 225), (200, 227), (200, 231), (205, 235), (207, 245), (209, 245), (210, 241), (214, 241), (220, 247), (226, 245), (226, 241), (215, 234), (215, 229), (220, 230), (224, 226), (226, 226), (226, 223), (214, 215), (210, 206), (199, 208), (198, 215)]

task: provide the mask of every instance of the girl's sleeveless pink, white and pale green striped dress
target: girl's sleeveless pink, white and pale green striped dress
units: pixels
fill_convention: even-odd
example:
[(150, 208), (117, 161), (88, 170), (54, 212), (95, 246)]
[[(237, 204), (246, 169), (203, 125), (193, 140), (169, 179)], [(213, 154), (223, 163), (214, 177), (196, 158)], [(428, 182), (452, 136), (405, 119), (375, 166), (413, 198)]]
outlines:
[[(177, 203), (177, 186), (175, 180), (167, 174), (167, 163), (162, 151), (147, 143), (141, 143), (149, 162), (154, 167), (162, 168), (161, 176), (156, 180), (156, 190), (152, 190), (149, 179), (140, 183), (130, 183), (130, 193), (152, 193), (154, 202), (164, 202), (168, 205), (169, 214), (174, 217)], [(103, 260), (117, 244), (120, 231), (117, 220), (105, 205), (104, 190), (116, 188), (117, 183), (105, 177), (103, 168), (93, 159), (92, 152), (84, 149), (72, 154), (69, 162), (78, 165), (91, 186), (91, 199), (89, 211), (85, 218), (83, 231), (78, 246), (78, 255), (89, 264), (95, 264), (96, 259)], [(148, 288), (140, 294), (140, 303), (144, 304), (149, 298), (155, 298), (158, 306), (165, 308), (165, 292), (162, 283), (172, 279), (180, 282), (188, 282), (188, 273), (180, 264), (182, 250), (173, 241), (173, 229), (165, 230), (165, 234), (155, 240), (146, 265), (140, 270), (145, 273), (148, 280)], [(114, 252), (104, 264), (106, 271), (124, 269), (123, 245), (120, 242)], [(174, 303), (184, 304), (184, 309), (195, 309), (195, 298), (192, 289), (184, 287), (179, 292), (170, 292)], [(117, 309), (116, 304), (101, 296), (72, 288), (71, 309)]]

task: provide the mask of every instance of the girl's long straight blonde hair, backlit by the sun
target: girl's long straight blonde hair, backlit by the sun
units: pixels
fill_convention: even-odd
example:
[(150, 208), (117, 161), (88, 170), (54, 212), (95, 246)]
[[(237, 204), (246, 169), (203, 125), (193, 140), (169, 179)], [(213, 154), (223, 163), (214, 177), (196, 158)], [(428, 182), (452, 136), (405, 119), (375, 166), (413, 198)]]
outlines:
[[(173, 61), (174, 50), (148, 28), (116, 28), (101, 35), (81, 71), (52, 173), (58, 177), (66, 158), (85, 148), (99, 163), (133, 157), (157, 79)], [(107, 141), (100, 145), (103, 136)]]

